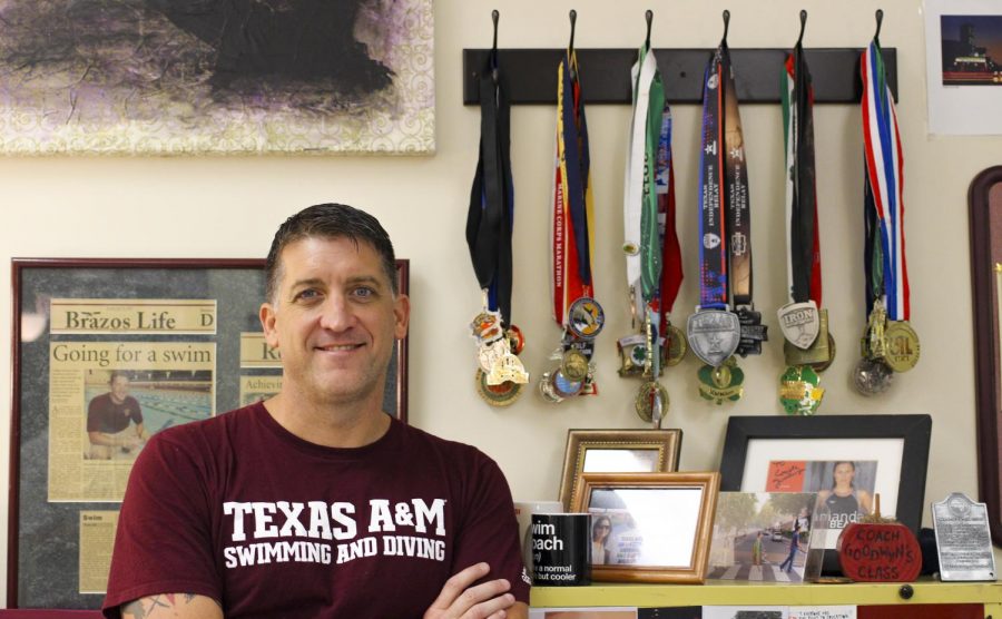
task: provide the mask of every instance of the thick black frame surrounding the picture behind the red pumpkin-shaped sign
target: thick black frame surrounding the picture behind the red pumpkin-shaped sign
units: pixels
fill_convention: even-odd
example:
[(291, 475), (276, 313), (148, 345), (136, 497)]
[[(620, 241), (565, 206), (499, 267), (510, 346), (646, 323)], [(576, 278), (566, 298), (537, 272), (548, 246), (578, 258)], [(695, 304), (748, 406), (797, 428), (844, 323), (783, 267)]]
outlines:
[[(825, 416), (731, 416), (727, 422), (724, 455), (720, 461), (723, 492), (759, 492), (763, 489), (743, 488), (748, 445), (755, 440), (823, 439), (853, 441), (861, 439), (900, 439), (903, 441), (895, 508), (885, 504), (884, 513), (917, 533), (925, 501), (925, 478), (929, 469), (929, 444), (932, 438), (930, 415), (825, 415)], [(782, 460), (782, 454), (779, 460)], [(874, 454), (880, 458), (880, 454)], [(822, 460), (828, 460), (823, 458)], [(838, 556), (826, 550), (823, 570), (841, 573)]]

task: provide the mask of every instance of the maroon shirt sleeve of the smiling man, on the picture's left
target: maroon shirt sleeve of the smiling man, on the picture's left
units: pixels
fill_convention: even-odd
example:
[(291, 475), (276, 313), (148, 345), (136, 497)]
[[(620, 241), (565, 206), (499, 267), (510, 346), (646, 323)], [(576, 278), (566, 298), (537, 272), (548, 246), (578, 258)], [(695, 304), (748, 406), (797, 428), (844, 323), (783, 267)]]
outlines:
[[(191, 445), (155, 435), (136, 460), (119, 514), (106, 617), (157, 593), (222, 599), (207, 491), (207, 466)], [(189, 434), (190, 435), (190, 434)]]

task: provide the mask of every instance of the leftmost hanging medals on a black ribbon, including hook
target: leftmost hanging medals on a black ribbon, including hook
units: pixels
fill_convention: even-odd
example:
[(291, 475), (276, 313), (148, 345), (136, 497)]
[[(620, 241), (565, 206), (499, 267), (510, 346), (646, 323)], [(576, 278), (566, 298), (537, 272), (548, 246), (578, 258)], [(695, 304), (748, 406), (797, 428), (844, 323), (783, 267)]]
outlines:
[(510, 107), (498, 65), (498, 11), (494, 46), (480, 76), (480, 160), (470, 190), (466, 244), (482, 291), (481, 312), (470, 323), (477, 341), (480, 396), (494, 406), (514, 402), (529, 382), (522, 362), (521, 331), (511, 324), (514, 189), (510, 160)]

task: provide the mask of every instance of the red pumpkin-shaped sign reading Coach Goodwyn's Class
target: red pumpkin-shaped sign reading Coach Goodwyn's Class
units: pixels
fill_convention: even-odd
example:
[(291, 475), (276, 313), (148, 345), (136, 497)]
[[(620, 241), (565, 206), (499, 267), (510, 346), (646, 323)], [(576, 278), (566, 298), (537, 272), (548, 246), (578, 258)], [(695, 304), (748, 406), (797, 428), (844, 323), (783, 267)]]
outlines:
[(856, 582), (912, 582), (922, 571), (922, 549), (898, 522), (854, 522), (838, 538), (842, 573)]

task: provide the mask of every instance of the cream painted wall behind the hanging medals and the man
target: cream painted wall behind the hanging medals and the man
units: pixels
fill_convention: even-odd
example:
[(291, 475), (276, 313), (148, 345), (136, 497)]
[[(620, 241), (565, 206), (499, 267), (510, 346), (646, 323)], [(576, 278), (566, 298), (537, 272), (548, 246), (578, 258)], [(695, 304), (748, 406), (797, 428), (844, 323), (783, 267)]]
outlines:
[[(629, 330), (621, 254), (620, 196), (629, 109), (588, 110), (596, 187), (597, 296), (609, 318), (599, 340), (599, 397), (551, 406), (534, 393), (509, 409), (491, 409), (472, 386), (473, 343), (466, 323), (480, 295), (463, 239), (466, 199), (475, 166), (479, 115), (461, 105), (461, 50), (490, 45), (490, 10), (480, 0), (435, 3), (438, 155), (421, 158), (37, 158), (0, 160), (0, 259), (39, 256), (259, 257), (277, 225), (298, 208), (345, 202), (375, 214), (411, 259), (411, 420), (445, 438), (478, 445), (504, 470), (517, 499), (553, 499), (570, 428), (642, 428), (632, 412), (637, 382), (616, 375), (615, 340)], [(824, 374), (823, 414), (933, 415), (926, 501), (949, 491), (978, 494), (974, 379), (966, 190), (974, 175), (1002, 159), (1002, 138), (926, 136), (924, 32), (917, 0), (884, 0), (881, 40), (896, 47), (905, 159), (906, 230), (913, 291), (912, 323), (922, 336), (918, 366), (877, 399), (849, 385), (864, 325), (861, 240), (861, 129), (854, 106), (818, 106), (816, 141), (825, 304), (838, 356)], [(737, 3), (678, 0), (669, 4), (578, 0), (576, 45), (632, 47), (644, 36), (642, 13), (656, 10), (655, 47), (713, 47), (720, 11), (731, 10), (731, 47), (786, 47), (796, 40), (797, 12), (807, 9), (807, 47), (862, 47), (873, 35), (876, 4), (831, 2)], [(750, 9), (748, 7), (755, 7)], [(561, 47), (568, 37), (566, 2), (510, 0), (500, 7), (502, 47)], [(670, 79), (670, 77), (668, 78)], [(778, 77), (777, 77), (778, 79)], [(588, 83), (584, 83), (587, 97)], [(978, 110), (998, 114), (998, 110)], [(677, 106), (679, 226), (687, 279), (676, 321), (696, 304), (696, 184), (699, 108)], [(666, 426), (685, 432), (681, 468), (719, 465), (729, 415), (783, 414), (776, 396), (783, 370), (774, 312), (785, 302), (783, 138), (778, 106), (741, 109), (750, 160), (756, 301), (772, 325), (762, 357), (741, 362), (745, 397), (728, 406), (704, 403), (696, 392), (697, 361), (670, 369)], [(512, 114), (517, 225), (514, 321), (528, 336), (522, 354), (536, 375), (557, 345), (548, 313), (547, 205), (551, 181), (553, 109), (518, 107)], [(9, 269), (0, 269), (0, 350), (9, 350)], [(0, 375), (10, 360), (0, 357)], [(10, 402), (4, 384), (0, 405)], [(8, 406), (9, 409), (9, 406)], [(847, 420), (847, 423), (851, 421)], [(9, 444), (0, 424), (0, 445)], [(3, 450), (4, 454), (7, 450)], [(0, 479), (8, 479), (7, 458)], [(926, 522), (929, 521), (926, 517)], [(7, 509), (0, 509), (7, 525)], [(6, 556), (6, 537), (0, 537)], [(76, 560), (76, 558), (67, 558)], [(6, 562), (3, 563), (6, 566)], [(2, 568), (0, 568), (2, 569)], [(0, 583), (6, 579), (0, 579)], [(2, 584), (0, 584), (2, 587)]]

